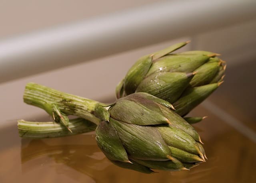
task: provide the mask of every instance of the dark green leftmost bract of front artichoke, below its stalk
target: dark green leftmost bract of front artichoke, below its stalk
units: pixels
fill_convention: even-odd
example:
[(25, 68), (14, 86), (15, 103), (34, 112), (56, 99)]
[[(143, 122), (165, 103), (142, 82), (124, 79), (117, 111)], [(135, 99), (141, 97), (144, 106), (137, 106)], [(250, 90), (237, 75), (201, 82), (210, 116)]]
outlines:
[(109, 122), (102, 121), (96, 128), (96, 142), (108, 159), (130, 162), (116, 130)]

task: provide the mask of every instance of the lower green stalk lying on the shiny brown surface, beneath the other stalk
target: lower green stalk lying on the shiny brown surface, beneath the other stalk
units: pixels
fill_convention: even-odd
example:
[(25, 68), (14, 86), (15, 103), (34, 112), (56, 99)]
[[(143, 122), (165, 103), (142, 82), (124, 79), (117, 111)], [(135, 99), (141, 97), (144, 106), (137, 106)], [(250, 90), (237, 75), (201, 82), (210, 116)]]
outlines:
[(96, 124), (83, 118), (69, 121), (70, 132), (65, 126), (56, 122), (28, 122), (18, 120), (19, 135), (22, 138), (54, 138), (91, 132), (96, 129)]

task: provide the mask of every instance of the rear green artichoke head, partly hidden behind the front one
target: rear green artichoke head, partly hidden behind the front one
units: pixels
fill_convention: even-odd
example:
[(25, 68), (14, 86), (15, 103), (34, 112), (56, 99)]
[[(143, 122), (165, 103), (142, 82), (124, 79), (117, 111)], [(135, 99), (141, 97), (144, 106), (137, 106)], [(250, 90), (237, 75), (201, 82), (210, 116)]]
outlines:
[(116, 97), (146, 92), (173, 104), (185, 116), (223, 82), (225, 62), (217, 53), (172, 53), (188, 42), (141, 57), (116, 87)]

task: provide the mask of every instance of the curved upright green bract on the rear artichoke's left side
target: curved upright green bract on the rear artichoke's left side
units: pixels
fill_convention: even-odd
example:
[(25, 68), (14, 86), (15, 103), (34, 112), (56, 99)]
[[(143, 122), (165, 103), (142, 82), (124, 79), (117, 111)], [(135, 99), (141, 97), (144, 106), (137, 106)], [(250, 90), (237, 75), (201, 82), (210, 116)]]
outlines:
[(150, 66), (152, 65), (152, 56), (144, 56), (130, 68), (124, 78), (124, 91), (126, 95), (135, 92), (140, 82), (144, 79)]

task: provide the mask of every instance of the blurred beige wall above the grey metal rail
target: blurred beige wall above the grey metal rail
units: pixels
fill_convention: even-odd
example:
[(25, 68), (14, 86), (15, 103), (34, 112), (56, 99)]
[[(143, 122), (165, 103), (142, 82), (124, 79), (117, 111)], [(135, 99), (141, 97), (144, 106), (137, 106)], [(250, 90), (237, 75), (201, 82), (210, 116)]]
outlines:
[(0, 0), (0, 39), (152, 2), (157, 0)]

